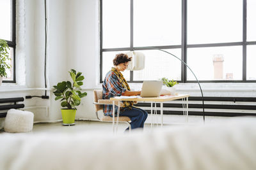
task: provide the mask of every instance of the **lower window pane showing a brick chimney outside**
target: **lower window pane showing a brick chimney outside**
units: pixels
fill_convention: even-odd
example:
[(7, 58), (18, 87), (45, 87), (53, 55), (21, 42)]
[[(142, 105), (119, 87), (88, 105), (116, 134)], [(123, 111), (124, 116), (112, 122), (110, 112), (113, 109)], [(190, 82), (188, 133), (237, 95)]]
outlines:
[[(188, 66), (198, 80), (242, 80), (242, 46), (188, 48)], [(187, 69), (188, 80), (196, 80)]]

